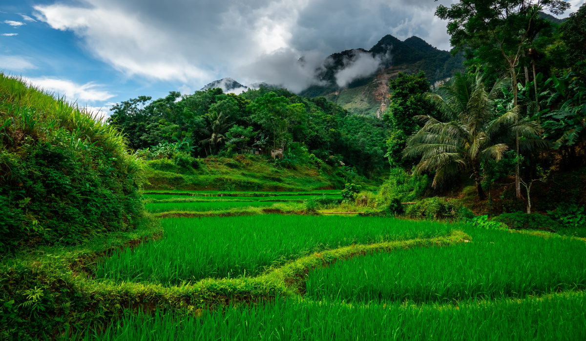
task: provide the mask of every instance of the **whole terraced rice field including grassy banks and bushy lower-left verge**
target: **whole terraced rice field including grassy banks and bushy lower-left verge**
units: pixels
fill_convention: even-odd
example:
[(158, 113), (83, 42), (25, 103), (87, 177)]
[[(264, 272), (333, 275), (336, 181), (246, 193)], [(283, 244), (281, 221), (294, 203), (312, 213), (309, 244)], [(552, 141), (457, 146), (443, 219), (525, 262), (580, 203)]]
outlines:
[(586, 337), (581, 239), (308, 214), (315, 192), (147, 193), (153, 216), (132, 232), (3, 259), (0, 284), (30, 294), (9, 306), (38, 307), (12, 326), (93, 341)]

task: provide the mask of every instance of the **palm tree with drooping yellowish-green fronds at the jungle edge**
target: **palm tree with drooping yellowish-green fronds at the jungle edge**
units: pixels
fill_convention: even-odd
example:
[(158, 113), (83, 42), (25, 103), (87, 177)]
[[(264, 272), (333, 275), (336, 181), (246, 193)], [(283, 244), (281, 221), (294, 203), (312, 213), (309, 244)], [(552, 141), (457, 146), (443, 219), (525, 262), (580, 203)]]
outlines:
[(519, 106), (499, 116), (494, 101), (505, 80), (499, 80), (487, 92), (482, 74), (456, 73), (438, 92), (426, 94), (440, 111), (442, 121), (432, 116), (417, 116), (425, 125), (407, 140), (403, 157), (421, 156), (414, 173), (435, 171), (432, 186), (462, 170), (472, 170), (476, 191), (482, 200), (480, 165), (489, 159), (499, 161), (515, 136), (527, 137), (520, 142), (523, 150), (547, 147), (541, 140), (539, 124), (519, 118)]

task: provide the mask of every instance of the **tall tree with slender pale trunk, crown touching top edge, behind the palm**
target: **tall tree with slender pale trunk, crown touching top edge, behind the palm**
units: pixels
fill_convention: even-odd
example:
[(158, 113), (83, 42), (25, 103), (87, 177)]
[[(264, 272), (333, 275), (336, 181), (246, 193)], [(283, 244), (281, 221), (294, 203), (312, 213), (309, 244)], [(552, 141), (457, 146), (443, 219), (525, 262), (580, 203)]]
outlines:
[[(510, 74), (513, 107), (516, 107), (517, 67), (523, 56), (523, 46), (534, 33), (539, 12), (547, 10), (559, 15), (568, 8), (570, 4), (561, 0), (460, 0), (450, 8), (438, 6), (435, 15), (449, 20), (448, 34), (454, 51), (466, 47), (499, 51)], [(519, 136), (516, 136), (515, 141), (518, 157)], [(515, 178), (517, 198), (521, 198), (519, 164), (516, 166)]]

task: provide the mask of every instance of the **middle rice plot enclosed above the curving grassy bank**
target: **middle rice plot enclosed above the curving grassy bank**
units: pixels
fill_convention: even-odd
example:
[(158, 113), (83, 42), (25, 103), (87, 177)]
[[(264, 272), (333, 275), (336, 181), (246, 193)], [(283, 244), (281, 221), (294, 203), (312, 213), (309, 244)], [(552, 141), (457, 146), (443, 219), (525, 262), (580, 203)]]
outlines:
[(97, 278), (179, 284), (254, 276), (271, 266), (352, 244), (447, 236), (454, 225), (340, 216), (239, 216), (162, 221), (156, 242), (98, 264)]

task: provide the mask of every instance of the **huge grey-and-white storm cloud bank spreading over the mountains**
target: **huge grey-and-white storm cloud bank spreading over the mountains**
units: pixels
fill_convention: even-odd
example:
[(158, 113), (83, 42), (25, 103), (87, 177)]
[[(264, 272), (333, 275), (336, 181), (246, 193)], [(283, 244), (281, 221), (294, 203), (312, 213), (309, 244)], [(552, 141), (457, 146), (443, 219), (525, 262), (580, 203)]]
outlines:
[[(319, 83), (325, 57), (370, 49), (384, 35), (416, 35), (449, 49), (441, 0), (81, 0), (34, 6), (37, 20), (70, 30), (85, 49), (125, 77), (197, 89), (225, 77), (301, 91)], [(303, 57), (303, 58), (302, 58)], [(357, 54), (340, 86), (376, 71)]]

